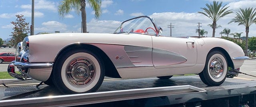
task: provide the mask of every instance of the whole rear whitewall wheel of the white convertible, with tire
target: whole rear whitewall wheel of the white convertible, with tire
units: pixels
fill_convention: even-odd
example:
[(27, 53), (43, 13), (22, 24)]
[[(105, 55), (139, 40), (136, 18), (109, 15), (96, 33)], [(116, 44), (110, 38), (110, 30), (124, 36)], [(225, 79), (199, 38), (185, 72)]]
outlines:
[(199, 73), (201, 80), (210, 86), (221, 85), (227, 76), (228, 63), (220, 51), (212, 51), (206, 57), (204, 70)]

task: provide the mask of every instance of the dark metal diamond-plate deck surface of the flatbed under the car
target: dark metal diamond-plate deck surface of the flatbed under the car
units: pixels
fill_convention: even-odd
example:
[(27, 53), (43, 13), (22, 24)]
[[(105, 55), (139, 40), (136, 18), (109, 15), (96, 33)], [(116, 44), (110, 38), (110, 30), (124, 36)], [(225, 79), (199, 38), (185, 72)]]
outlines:
[[(176, 76), (170, 79), (162, 80), (158, 78), (143, 78), (143, 79), (127, 79), (127, 80), (111, 80), (104, 81), (98, 92), (115, 91), (124, 89), (139, 89), (149, 87), (166, 87), (192, 85), (205, 89), (206, 91), (215, 91), (223, 89), (232, 89), (237, 87), (256, 86), (256, 81), (227, 78), (220, 86), (210, 87), (204, 84), (198, 75), (196, 76)], [(62, 95), (54, 87), (48, 85), (36, 86), (22, 86), (22, 87), (8, 87), (0, 88), (0, 99), (19, 99), (44, 97), (49, 95)]]

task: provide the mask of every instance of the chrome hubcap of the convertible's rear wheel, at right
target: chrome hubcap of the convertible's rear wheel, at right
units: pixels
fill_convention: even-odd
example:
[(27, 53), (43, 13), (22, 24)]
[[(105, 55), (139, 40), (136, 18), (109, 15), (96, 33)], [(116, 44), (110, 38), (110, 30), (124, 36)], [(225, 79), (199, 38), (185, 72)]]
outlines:
[(214, 57), (212, 61), (210, 62), (209, 70), (210, 74), (214, 78), (219, 78), (223, 74), (223, 61), (220, 59), (220, 57)]

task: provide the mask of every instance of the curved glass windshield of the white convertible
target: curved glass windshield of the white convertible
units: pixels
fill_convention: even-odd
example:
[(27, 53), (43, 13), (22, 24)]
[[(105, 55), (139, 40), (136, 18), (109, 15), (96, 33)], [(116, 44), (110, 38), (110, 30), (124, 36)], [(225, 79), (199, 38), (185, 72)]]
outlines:
[(157, 34), (157, 30), (154, 27), (154, 24), (148, 17), (138, 17), (125, 21), (116, 29), (114, 33), (117, 34), (123, 32), (154, 35)]

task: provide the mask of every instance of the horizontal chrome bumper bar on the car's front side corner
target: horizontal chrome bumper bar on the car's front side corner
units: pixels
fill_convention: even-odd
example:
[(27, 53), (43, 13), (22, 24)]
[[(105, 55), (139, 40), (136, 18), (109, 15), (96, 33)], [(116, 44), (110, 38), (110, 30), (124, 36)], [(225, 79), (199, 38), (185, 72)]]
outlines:
[(22, 62), (16, 62), (12, 61), (12, 63), (17, 66), (17, 67), (22, 67), (22, 68), (47, 68), (47, 67), (52, 67), (53, 63), (22, 63)]

